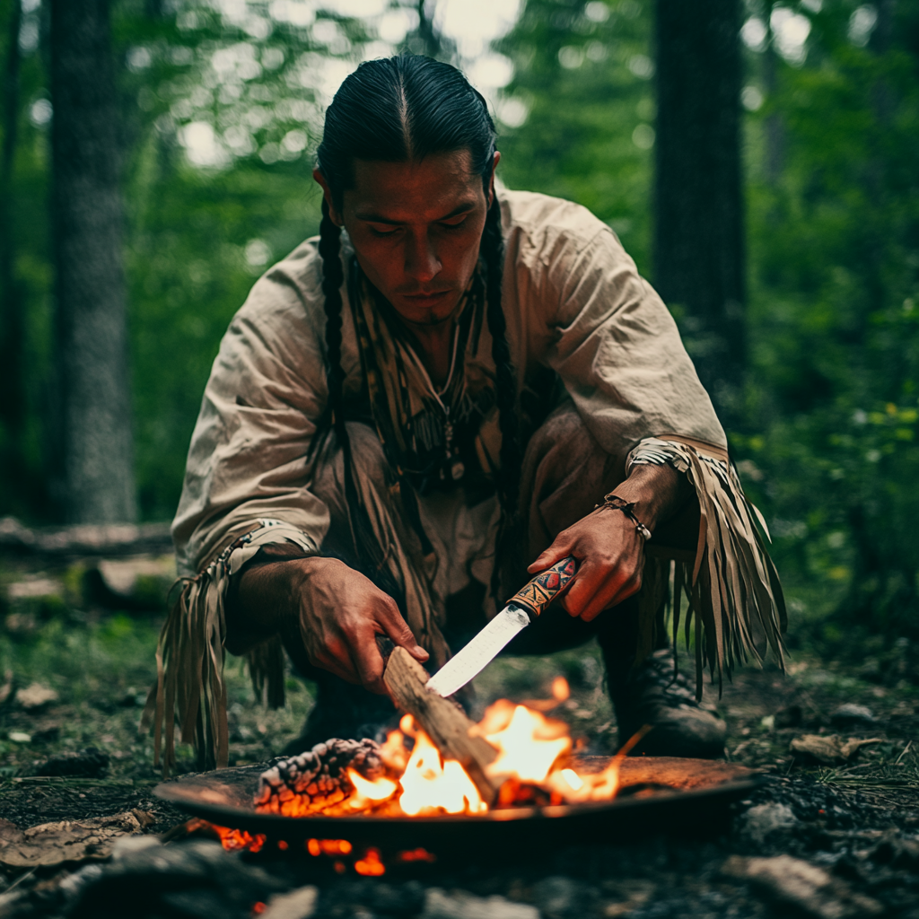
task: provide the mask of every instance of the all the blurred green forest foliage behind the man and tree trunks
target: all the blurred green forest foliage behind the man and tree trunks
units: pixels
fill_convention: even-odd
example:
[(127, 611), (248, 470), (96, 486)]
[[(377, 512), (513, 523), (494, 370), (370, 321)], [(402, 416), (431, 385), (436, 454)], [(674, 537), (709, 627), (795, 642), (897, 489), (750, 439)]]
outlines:
[[(5, 59), (12, 2), (0, 0)], [(263, 0), (159, 6), (114, 8), (138, 486), (143, 516), (161, 519), (226, 324), (257, 274), (317, 227), (323, 105), (376, 46), (371, 24), (306, 6), (298, 22)], [(20, 42), (10, 191), (25, 425), (0, 425), (0, 453), (15, 447), (25, 470), (0, 483), (0, 512), (36, 521), (53, 369), (46, 72), (29, 38), (43, 8)], [(859, 629), (919, 638), (919, 8), (744, 8), (748, 25), (806, 17), (810, 35), (806, 56), (767, 28), (747, 51), (751, 366), (732, 448), (798, 621), (839, 613), (811, 630), (824, 642)], [(650, 0), (527, 0), (498, 43), (515, 75), (496, 103), (506, 183), (594, 210), (651, 276), (652, 12)]]

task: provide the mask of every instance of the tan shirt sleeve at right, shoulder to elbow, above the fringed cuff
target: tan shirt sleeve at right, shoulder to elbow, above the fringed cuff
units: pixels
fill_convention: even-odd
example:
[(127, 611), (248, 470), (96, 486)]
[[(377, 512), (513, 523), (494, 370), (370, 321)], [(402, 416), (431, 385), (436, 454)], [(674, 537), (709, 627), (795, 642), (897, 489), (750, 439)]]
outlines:
[(673, 317), (615, 233), (578, 205), (547, 200), (554, 210), (508, 240), (522, 359), (559, 374), (609, 453), (666, 434), (725, 447)]

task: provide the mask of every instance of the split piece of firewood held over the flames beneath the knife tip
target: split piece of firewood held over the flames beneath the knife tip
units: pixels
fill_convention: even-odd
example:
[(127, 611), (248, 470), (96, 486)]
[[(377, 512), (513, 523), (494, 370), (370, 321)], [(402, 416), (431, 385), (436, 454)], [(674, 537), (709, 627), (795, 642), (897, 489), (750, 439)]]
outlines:
[(473, 722), (458, 705), (425, 689), (428, 674), (404, 648), (394, 648), (383, 674), (392, 698), (407, 711), (440, 751), (444, 759), (455, 759), (469, 773), (482, 800), (491, 805), (499, 783), (485, 774), (498, 752), (482, 737), (470, 736)]

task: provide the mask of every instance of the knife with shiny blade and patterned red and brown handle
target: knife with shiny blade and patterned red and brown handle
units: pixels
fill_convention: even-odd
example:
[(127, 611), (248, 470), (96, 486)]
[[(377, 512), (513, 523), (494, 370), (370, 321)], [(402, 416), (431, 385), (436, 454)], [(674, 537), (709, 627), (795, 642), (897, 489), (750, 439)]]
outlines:
[(425, 688), (447, 697), (469, 683), (492, 663), (517, 632), (539, 618), (539, 614), (571, 583), (575, 573), (577, 560), (569, 555), (537, 574), (469, 644), (425, 683)]

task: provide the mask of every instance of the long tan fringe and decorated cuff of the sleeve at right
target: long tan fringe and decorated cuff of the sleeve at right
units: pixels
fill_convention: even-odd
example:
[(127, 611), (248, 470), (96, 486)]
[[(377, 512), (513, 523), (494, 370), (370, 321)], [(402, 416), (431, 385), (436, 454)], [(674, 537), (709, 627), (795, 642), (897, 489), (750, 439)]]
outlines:
[[(696, 490), (699, 506), (698, 547), (691, 553), (663, 550), (649, 555), (643, 594), (653, 603), (666, 595), (673, 577), (674, 649), (680, 625), (682, 595), (686, 594), (686, 646), (695, 619), (696, 695), (702, 698), (705, 667), (719, 686), (735, 664), (753, 657), (762, 663), (761, 649), (768, 647), (782, 669), (788, 625), (782, 585), (776, 566), (756, 524), (766, 539), (769, 531), (759, 511), (743, 494), (737, 472), (724, 450), (675, 435), (647, 437), (634, 448), (627, 471), (638, 465), (672, 466), (686, 474)], [(670, 555), (667, 559), (666, 556)], [(664, 556), (662, 558), (661, 556)], [(653, 595), (653, 596), (652, 596)], [(642, 610), (642, 620), (649, 620)], [(650, 630), (648, 631), (650, 634)], [(641, 640), (640, 640), (641, 641)], [(650, 638), (641, 644), (648, 644)]]

